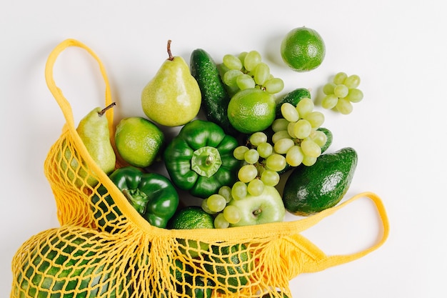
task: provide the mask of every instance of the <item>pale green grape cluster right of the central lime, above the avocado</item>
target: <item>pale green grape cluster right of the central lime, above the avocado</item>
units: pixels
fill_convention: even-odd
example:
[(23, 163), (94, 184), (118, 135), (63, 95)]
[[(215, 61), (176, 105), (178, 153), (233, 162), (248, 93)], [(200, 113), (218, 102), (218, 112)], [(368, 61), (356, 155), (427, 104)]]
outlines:
[(285, 155), (286, 163), (291, 167), (315, 164), (326, 144), (326, 134), (318, 130), (324, 115), (313, 108), (313, 101), (308, 98), (301, 99), (296, 106), (284, 103), (281, 105), (283, 118), (276, 119), (271, 125), (273, 150)]

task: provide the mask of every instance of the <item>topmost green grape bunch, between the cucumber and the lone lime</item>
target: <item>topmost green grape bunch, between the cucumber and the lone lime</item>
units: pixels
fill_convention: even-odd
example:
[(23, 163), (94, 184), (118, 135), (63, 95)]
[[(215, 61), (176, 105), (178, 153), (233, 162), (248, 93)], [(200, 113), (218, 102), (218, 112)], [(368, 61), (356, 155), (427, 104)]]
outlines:
[(222, 81), (231, 95), (249, 88), (276, 94), (284, 88), (283, 80), (270, 73), (270, 67), (262, 61), (258, 51), (243, 51), (238, 56), (226, 54), (220, 70)]

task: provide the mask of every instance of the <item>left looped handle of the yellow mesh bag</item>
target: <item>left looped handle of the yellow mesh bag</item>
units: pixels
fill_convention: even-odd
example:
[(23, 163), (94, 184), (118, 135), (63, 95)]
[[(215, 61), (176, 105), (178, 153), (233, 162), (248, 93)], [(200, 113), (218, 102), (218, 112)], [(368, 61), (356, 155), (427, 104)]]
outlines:
[[(62, 41), (60, 44), (58, 44), (54, 48), (54, 50), (51, 51), (51, 53), (46, 61), (46, 66), (45, 66), (46, 84), (47, 84), (49, 90), (51, 91), (51, 94), (53, 94), (54, 99), (56, 99), (57, 103), (59, 104), (62, 112), (64, 113), (64, 117), (66, 119), (66, 124), (68, 124), (69, 129), (74, 130), (72, 132), (77, 135), (76, 125), (74, 123), (73, 111), (71, 109), (69, 101), (65, 98), (61, 89), (59, 89), (59, 87), (56, 86), (56, 82), (54, 81), (54, 76), (53, 76), (53, 68), (54, 68), (54, 64), (56, 62), (57, 57), (59, 56), (59, 54), (61, 54), (62, 51), (64, 51), (64, 49), (66, 49), (70, 46), (78, 46), (79, 48), (88, 51), (89, 54), (91, 54), (91, 56), (98, 62), (99, 69), (101, 71), (101, 75), (102, 75), (102, 77), (104, 79), (104, 83), (106, 85), (106, 91), (105, 91), (106, 105), (105, 106), (109, 106), (109, 104), (112, 103), (112, 100), (111, 100), (110, 84), (109, 84), (109, 79), (106, 74), (106, 69), (104, 68), (104, 65), (102, 64), (99, 57), (94, 53), (94, 51), (92, 51), (88, 46), (81, 43), (80, 41), (77, 41), (76, 39), (66, 39), (66, 40)], [(114, 126), (113, 126), (114, 111), (113, 111), (113, 109), (109, 109), (106, 112), (106, 117), (107, 117), (107, 120), (109, 121), (109, 131), (114, 131), (113, 130), (114, 129)], [(81, 141), (81, 139), (79, 139), (79, 141)]]

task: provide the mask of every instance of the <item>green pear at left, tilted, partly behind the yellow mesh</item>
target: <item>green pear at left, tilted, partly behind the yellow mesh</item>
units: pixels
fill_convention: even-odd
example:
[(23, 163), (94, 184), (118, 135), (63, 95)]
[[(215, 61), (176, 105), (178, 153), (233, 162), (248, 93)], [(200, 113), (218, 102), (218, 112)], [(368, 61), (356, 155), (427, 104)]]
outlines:
[[(91, 110), (79, 121), (76, 128), (91, 158), (106, 174), (114, 171), (116, 155), (110, 141), (109, 121), (104, 114), (107, 109), (114, 105), (115, 103), (106, 106), (105, 109), (96, 107)], [(64, 142), (65, 145), (66, 142)], [(74, 182), (76, 187), (81, 188), (85, 183), (94, 187), (98, 184), (98, 181), (89, 175), (87, 164), (85, 162), (80, 164), (80, 160), (79, 152), (67, 146), (64, 151), (64, 158), (59, 160), (59, 164), (62, 171), (66, 172), (66, 177)], [(86, 179), (85, 182), (84, 179)]]

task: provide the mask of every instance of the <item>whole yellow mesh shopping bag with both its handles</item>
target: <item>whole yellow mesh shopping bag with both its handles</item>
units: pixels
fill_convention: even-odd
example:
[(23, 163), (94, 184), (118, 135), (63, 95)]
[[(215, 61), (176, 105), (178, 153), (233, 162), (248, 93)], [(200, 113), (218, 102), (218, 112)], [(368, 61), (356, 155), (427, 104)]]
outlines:
[[(151, 226), (91, 159), (76, 132), (71, 106), (52, 73), (56, 57), (68, 46), (85, 49), (98, 61), (106, 105), (111, 103), (106, 72), (96, 54), (73, 39), (56, 46), (46, 80), (66, 124), (44, 169), (61, 226), (34, 235), (18, 249), (12, 260), (11, 298), (282, 297), (279, 292), (291, 297), (288, 284), (298, 274), (351, 262), (386, 241), (386, 211), (371, 192), (293, 222), (219, 230)], [(107, 113), (111, 124), (113, 111)], [(91, 179), (99, 183), (91, 187)], [(383, 225), (372, 247), (328, 256), (300, 234), (361, 198), (371, 199)]]

